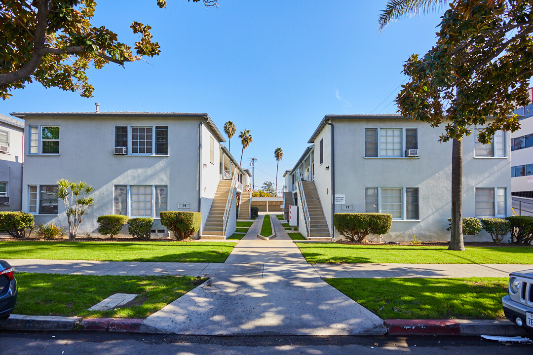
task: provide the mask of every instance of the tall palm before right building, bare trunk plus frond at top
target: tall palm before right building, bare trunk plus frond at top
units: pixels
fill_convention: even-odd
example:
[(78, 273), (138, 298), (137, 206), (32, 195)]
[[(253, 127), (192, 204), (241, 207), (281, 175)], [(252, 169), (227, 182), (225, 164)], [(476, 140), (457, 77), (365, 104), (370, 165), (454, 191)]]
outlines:
[[(379, 15), (379, 31), (391, 20), (407, 15), (433, 11), (446, 5), (446, 0), (389, 0)], [(451, 236), (449, 250), (465, 250), (463, 239), (463, 141), (453, 139), (451, 147)]]

